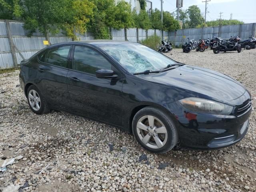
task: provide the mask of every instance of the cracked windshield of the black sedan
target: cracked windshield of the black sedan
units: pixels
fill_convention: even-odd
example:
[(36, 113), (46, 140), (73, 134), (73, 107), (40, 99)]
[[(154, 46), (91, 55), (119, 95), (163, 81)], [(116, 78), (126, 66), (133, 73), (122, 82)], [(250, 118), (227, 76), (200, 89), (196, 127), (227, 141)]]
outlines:
[(168, 64), (176, 63), (163, 54), (138, 43), (117, 44), (101, 48), (115, 58), (130, 73), (160, 70)]

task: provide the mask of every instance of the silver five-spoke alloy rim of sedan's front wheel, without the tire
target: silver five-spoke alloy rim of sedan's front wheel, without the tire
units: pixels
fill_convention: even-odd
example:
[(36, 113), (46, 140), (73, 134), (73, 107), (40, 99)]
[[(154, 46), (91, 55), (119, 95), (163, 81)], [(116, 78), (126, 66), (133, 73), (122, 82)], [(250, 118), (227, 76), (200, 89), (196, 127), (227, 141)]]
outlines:
[(152, 149), (162, 148), (167, 142), (166, 127), (155, 116), (142, 116), (137, 122), (136, 131), (142, 143)]

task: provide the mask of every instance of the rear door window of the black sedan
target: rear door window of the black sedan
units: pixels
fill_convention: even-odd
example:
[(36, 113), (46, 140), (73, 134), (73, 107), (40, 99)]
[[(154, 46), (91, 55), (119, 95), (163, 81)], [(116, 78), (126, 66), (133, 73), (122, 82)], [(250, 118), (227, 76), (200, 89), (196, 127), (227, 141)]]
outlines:
[(45, 62), (67, 68), (69, 49), (70, 46), (61, 46), (48, 50)]

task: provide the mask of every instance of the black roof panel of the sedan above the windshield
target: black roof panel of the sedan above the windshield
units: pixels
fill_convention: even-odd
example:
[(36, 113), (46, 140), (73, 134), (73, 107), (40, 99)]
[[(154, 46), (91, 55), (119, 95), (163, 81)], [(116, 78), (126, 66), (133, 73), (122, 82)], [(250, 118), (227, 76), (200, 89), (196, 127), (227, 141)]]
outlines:
[(117, 44), (130, 44), (135, 42), (117, 41), (117, 40), (86, 40), (86, 41), (75, 41), (75, 43), (92, 44), (94, 46), (101, 47), (101, 46), (109, 46), (109, 45), (117, 45)]

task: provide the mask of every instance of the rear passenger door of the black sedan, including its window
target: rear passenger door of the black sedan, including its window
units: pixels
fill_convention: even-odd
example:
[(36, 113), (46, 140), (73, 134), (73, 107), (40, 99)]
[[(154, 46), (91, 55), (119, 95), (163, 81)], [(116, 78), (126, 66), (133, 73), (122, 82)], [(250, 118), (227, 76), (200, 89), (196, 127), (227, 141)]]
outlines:
[(70, 110), (67, 74), (71, 46), (58, 46), (38, 56), (37, 78), (48, 104), (52, 108)]

